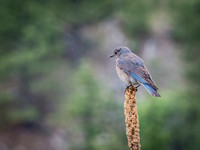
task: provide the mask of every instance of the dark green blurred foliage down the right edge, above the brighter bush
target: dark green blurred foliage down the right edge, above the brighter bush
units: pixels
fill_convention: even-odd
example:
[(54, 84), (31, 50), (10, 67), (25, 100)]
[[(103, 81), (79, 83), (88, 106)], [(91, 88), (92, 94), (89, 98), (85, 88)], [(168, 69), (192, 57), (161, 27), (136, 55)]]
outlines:
[[(183, 58), (187, 65), (186, 75), (195, 86), (193, 93), (199, 94), (200, 85), (200, 1), (172, 1), (174, 38), (180, 43)], [(196, 90), (195, 90), (196, 89)]]

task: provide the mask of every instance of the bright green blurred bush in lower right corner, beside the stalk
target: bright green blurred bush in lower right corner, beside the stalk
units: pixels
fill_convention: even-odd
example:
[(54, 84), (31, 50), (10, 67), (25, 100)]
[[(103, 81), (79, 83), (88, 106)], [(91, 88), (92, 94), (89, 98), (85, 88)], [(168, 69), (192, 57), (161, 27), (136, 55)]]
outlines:
[(181, 91), (162, 97), (139, 105), (143, 149), (198, 150), (200, 111), (196, 101)]

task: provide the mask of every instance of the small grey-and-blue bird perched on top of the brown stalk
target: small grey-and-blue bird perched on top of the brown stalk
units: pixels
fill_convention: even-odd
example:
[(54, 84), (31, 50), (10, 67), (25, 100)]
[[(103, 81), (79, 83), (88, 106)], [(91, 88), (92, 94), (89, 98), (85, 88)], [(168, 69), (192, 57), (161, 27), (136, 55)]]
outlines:
[(119, 78), (126, 83), (127, 87), (134, 86), (136, 89), (143, 85), (146, 90), (155, 97), (161, 97), (144, 61), (132, 53), (128, 47), (119, 46), (114, 49), (109, 58), (116, 60), (116, 71)]

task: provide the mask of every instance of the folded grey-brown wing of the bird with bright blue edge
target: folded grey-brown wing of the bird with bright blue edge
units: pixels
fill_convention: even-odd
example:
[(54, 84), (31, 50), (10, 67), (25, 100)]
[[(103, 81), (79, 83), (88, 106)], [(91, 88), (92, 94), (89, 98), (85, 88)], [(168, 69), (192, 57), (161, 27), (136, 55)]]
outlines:
[(141, 83), (146, 83), (151, 87), (158, 89), (149, 73), (147, 68), (144, 66), (143, 62), (135, 62), (132, 59), (119, 59), (117, 61), (117, 65), (120, 69), (122, 69), (125, 73), (138, 80)]

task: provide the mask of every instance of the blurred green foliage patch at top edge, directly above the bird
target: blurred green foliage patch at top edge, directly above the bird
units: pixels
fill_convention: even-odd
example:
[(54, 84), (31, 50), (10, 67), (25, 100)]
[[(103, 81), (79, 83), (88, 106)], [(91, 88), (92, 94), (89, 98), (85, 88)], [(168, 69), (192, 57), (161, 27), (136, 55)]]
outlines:
[(127, 0), (121, 5), (118, 19), (125, 34), (134, 39), (133, 49), (140, 49), (150, 35), (149, 18), (159, 3), (157, 0)]

